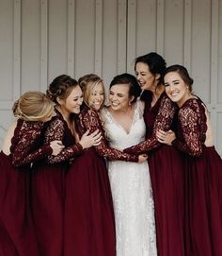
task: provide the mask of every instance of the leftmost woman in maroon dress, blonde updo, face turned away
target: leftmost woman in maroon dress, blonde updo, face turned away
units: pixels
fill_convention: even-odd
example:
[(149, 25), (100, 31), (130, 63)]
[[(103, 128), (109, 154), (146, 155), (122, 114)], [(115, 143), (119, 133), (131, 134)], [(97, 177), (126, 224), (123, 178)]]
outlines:
[(38, 256), (30, 209), (30, 163), (62, 149), (54, 141), (42, 145), (44, 122), (54, 113), (53, 102), (40, 92), (23, 94), (13, 106), (17, 119), (0, 152), (0, 255)]

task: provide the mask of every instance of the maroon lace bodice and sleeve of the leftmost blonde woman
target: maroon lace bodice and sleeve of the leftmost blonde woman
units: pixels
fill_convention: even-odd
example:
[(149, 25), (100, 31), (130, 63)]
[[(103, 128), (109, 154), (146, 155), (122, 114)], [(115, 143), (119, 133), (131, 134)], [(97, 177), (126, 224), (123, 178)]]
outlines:
[(11, 139), (10, 153), (16, 167), (36, 162), (52, 153), (49, 145), (43, 145), (44, 124), (18, 119)]

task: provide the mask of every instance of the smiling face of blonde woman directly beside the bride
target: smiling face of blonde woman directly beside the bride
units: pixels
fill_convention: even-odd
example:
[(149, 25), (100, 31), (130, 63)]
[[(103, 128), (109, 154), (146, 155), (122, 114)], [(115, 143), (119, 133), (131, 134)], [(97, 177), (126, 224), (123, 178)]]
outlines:
[(90, 92), (87, 99), (87, 104), (95, 111), (99, 111), (104, 103), (104, 86), (103, 82), (97, 82), (94, 84), (91, 82), (87, 86), (90, 87)]

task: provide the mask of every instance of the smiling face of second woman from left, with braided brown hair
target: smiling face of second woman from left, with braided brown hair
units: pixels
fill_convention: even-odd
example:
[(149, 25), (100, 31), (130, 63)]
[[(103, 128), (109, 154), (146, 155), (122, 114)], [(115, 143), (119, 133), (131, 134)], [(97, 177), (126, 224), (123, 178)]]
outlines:
[(83, 103), (83, 92), (80, 86), (73, 87), (67, 98), (58, 99), (58, 103), (64, 113), (79, 113), (80, 106)]

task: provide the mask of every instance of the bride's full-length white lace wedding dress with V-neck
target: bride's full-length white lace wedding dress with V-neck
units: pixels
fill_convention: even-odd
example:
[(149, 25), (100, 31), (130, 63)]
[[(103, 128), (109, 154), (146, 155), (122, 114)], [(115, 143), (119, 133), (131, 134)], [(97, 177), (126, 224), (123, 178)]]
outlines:
[[(143, 107), (135, 106), (129, 133), (103, 108), (103, 126), (109, 145), (124, 149), (145, 140)], [(156, 256), (151, 178), (148, 162), (107, 162), (117, 232), (117, 256)]]

